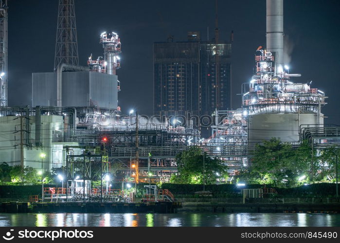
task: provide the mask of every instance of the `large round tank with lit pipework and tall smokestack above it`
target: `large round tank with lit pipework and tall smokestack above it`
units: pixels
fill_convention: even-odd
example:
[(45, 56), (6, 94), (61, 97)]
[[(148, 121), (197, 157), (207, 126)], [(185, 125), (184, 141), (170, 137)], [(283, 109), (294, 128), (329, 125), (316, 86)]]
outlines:
[[(267, 0), (267, 50), (259, 47), (255, 73), (242, 87), (242, 110), (249, 146), (273, 137), (299, 141), (301, 125), (323, 125), (324, 93), (309, 83), (293, 83), (301, 74), (284, 65), (283, 0)], [(248, 86), (248, 88), (246, 87)]]

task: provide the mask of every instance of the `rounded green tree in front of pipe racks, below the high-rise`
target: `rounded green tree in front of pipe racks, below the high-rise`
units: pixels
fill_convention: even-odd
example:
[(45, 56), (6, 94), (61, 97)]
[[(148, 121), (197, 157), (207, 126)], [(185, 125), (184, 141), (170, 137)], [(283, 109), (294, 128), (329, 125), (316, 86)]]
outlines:
[(227, 168), (220, 159), (209, 157), (197, 146), (179, 153), (176, 162), (178, 174), (171, 178), (173, 183), (203, 184), (204, 177), (205, 184), (214, 184), (219, 176), (227, 174)]

